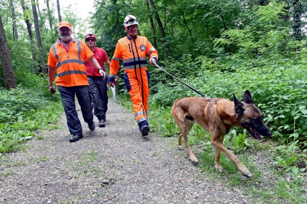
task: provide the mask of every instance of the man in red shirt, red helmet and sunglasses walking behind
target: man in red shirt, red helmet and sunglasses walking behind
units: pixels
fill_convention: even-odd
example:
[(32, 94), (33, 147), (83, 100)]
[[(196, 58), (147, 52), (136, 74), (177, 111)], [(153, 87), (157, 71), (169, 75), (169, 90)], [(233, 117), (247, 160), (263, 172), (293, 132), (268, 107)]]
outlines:
[[(104, 49), (96, 47), (96, 36), (92, 33), (86, 34), (85, 43), (94, 53), (94, 58), (98, 61), (100, 67), (105, 71), (104, 63), (110, 68), (110, 61)], [(107, 111), (107, 78), (103, 79), (98, 70), (85, 60), (86, 75), (90, 83), (90, 93), (94, 104), (94, 115), (98, 118), (99, 127), (105, 126), (105, 112)]]

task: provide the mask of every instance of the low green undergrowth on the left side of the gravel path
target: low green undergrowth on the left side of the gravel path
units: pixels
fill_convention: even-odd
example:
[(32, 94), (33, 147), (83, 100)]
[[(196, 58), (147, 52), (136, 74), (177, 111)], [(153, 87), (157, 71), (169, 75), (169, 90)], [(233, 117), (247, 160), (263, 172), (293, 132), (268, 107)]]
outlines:
[(61, 112), (60, 104), (55, 102), (21, 86), (0, 90), (0, 152), (15, 151), (35, 135), (33, 131), (55, 122)]

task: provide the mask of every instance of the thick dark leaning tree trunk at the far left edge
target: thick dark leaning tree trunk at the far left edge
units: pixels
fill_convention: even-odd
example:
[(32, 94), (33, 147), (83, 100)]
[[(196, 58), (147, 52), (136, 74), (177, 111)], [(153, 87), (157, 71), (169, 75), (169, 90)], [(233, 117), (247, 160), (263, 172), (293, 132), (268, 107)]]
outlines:
[(0, 15), (0, 59), (3, 67), (3, 78), (5, 80), (5, 86), (9, 90), (16, 88), (16, 79), (14, 70), (11, 64), (10, 50), (5, 37), (2, 17)]

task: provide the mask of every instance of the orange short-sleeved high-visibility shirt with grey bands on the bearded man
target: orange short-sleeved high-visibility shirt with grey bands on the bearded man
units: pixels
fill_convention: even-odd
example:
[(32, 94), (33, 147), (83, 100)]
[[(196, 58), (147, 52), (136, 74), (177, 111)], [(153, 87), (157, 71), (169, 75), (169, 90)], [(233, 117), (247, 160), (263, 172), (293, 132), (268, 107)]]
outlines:
[(66, 87), (89, 85), (85, 59), (88, 60), (93, 55), (91, 49), (80, 40), (72, 38), (67, 52), (58, 39), (51, 46), (48, 57), (48, 65), (56, 68), (56, 85)]

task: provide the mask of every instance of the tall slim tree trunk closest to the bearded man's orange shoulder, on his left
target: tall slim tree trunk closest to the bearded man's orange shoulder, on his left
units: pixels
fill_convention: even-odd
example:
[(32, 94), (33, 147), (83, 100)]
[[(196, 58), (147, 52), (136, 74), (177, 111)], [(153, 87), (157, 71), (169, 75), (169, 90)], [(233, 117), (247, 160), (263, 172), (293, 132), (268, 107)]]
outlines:
[(36, 33), (36, 40), (38, 45), (38, 53), (39, 53), (39, 60), (40, 60), (40, 68), (42, 73), (46, 74), (46, 67), (45, 67), (45, 60), (43, 59), (43, 49), (41, 44), (41, 37), (39, 31), (39, 24), (38, 24), (38, 16), (36, 11), (36, 5), (34, 1), (31, 1), (32, 4), (32, 11), (33, 11), (33, 18), (34, 18), (34, 26), (35, 26), (35, 33)]

